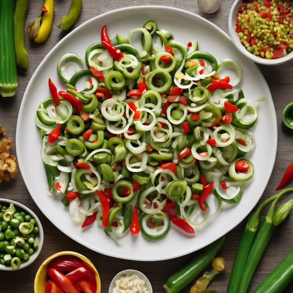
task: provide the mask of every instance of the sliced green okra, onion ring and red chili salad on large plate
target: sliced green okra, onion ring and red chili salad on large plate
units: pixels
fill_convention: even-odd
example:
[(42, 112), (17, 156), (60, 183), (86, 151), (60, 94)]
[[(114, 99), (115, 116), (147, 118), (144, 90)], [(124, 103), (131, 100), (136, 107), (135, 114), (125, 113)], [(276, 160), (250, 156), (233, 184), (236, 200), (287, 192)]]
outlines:
[[(69, 62), (84, 69), (70, 77)], [(218, 64), (197, 41), (180, 43), (148, 21), (111, 40), (104, 26), (85, 65), (66, 53), (57, 73), (66, 91), (49, 79), (35, 123), (48, 194), (82, 228), (98, 220), (115, 240), (128, 230), (162, 239), (172, 222), (194, 234), (222, 201), (241, 200), (254, 172), (244, 157), (255, 148), (258, 107), (237, 88), (237, 61)]]

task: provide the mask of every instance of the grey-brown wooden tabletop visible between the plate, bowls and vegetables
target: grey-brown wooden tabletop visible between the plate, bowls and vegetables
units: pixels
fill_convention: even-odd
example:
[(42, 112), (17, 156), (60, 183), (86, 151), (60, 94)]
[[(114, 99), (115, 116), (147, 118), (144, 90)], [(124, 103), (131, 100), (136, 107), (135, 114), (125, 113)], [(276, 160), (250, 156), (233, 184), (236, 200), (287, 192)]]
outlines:
[[(67, 32), (63, 32), (57, 29), (57, 23), (61, 20), (62, 16), (67, 13), (71, 1), (69, 0), (55, 0), (55, 13), (53, 30), (49, 39), (42, 44), (36, 44), (35, 42), (26, 40), (29, 67), (27, 72), (20, 71), (18, 75), (18, 87), (16, 95), (12, 98), (0, 98), (0, 123), (6, 129), (9, 137), (15, 142), (16, 133), (16, 121), (18, 117), (18, 111), (21, 104), (25, 88), (30, 80), (32, 74), (47, 55), (47, 53), (61, 40)], [(84, 0), (82, 4), (82, 11), (79, 20), (74, 27), (84, 23), (85, 21), (100, 15), (104, 12), (111, 11), (118, 8), (134, 5), (166, 5), (181, 8), (193, 13), (199, 14), (202, 17), (208, 19), (219, 28), (228, 33), (228, 15), (233, 1), (223, 0), (221, 8), (217, 13), (211, 15), (200, 13), (197, 8), (196, 1), (188, 0), (152, 0), (151, 3), (146, 0)], [(30, 6), (28, 15), (26, 18), (26, 24), (28, 21), (35, 19), (38, 16), (43, 0), (30, 0)], [(293, 62), (286, 63), (284, 65), (266, 67), (259, 66), (266, 81), (270, 87), (272, 97), (275, 103), (277, 112), (278, 123), (278, 151), (275, 161), (274, 170), (268, 186), (261, 198), (261, 201), (275, 194), (275, 188), (277, 183), (281, 180), (282, 174), (285, 168), (289, 165), (289, 162), (293, 160), (292, 149), (292, 133), (287, 132), (282, 125), (282, 111), (285, 105), (292, 102), (292, 74), (293, 74)], [(15, 145), (13, 145), (12, 154), (16, 154)], [(263, 162), (265, 164), (265, 162)], [(33, 166), (32, 166), (33, 170)], [(293, 186), (292, 184), (289, 186)], [(101, 292), (107, 293), (112, 278), (121, 270), (132, 268), (144, 272), (149, 278), (154, 293), (163, 293), (163, 284), (169, 275), (176, 272), (181, 266), (183, 266), (192, 255), (185, 255), (173, 260), (153, 262), (137, 262), (130, 260), (122, 260), (117, 258), (111, 258), (76, 243), (62, 232), (60, 232), (53, 224), (40, 212), (35, 205), (33, 199), (30, 197), (28, 190), (25, 187), (21, 173), (19, 172), (15, 178), (10, 182), (3, 182), (0, 185), (0, 197), (16, 200), (28, 208), (32, 209), (44, 228), (44, 245), (42, 251), (35, 260), (25, 270), (16, 272), (0, 273), (0, 292), (1, 293), (32, 293), (35, 274), (41, 265), (41, 263), (53, 253), (63, 250), (76, 251), (86, 255), (96, 266), (101, 279)], [(285, 197), (285, 198), (288, 198)], [(241, 233), (243, 231), (245, 221), (239, 224), (235, 229), (226, 234), (225, 243), (219, 252), (219, 255), (226, 260), (226, 271), (217, 276), (210, 285), (210, 288), (216, 289), (219, 293), (226, 292), (236, 247), (238, 245)], [(253, 292), (258, 284), (268, 275), (270, 271), (285, 257), (285, 255), (292, 249), (292, 232), (293, 232), (293, 217), (289, 218), (275, 230), (273, 237), (268, 244), (268, 247), (258, 265), (258, 268), (254, 274), (251, 282), (249, 292)], [(151, 253), (151, 251), (149, 252)], [(195, 255), (194, 253), (193, 255)], [(182, 293), (189, 292), (190, 285), (187, 286)], [(289, 285), (284, 292), (293, 292), (293, 284)]]

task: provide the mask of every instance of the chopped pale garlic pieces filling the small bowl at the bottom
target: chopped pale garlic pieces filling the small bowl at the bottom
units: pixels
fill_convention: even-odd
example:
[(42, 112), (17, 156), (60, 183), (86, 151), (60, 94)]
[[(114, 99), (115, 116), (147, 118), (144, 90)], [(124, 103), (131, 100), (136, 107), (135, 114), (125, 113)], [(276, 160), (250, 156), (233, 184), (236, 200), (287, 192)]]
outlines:
[(137, 274), (125, 274), (115, 282), (113, 293), (149, 293), (145, 281)]

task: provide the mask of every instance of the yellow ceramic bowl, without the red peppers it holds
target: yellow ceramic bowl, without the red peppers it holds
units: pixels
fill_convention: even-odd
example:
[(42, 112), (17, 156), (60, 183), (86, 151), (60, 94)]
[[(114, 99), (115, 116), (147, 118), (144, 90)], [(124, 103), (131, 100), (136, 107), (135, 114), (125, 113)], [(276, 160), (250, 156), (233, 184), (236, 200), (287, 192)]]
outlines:
[(80, 258), (88, 267), (91, 268), (91, 270), (93, 270), (93, 272), (95, 272), (96, 275), (96, 282), (97, 282), (97, 292), (96, 293), (100, 293), (101, 292), (101, 282), (100, 282), (100, 276), (99, 273), (97, 271), (97, 269), (95, 268), (95, 266), (93, 265), (93, 263), (86, 258), (84, 255), (74, 252), (74, 251), (61, 251), (58, 253), (55, 253), (53, 255), (51, 255), (50, 257), (48, 257), (40, 266), (40, 268), (38, 269), (38, 272), (35, 276), (35, 284), (34, 284), (34, 290), (35, 293), (45, 293), (45, 287), (46, 287), (46, 283), (48, 280), (48, 270), (50, 268), (50, 261), (53, 260), (54, 258), (57, 258), (58, 256), (61, 255), (74, 255), (77, 256), (78, 258)]

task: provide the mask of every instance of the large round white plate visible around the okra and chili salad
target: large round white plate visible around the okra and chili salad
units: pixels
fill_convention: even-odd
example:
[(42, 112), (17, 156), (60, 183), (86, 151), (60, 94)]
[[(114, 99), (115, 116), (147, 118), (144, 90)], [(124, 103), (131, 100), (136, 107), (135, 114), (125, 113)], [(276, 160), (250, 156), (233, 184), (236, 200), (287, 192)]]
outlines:
[[(158, 28), (170, 30), (180, 42), (186, 44), (197, 40), (200, 50), (211, 53), (218, 62), (224, 58), (236, 59), (243, 69), (243, 81), (239, 86), (246, 98), (255, 100), (258, 96), (265, 96), (267, 100), (259, 103), (259, 120), (253, 129), (257, 142), (251, 158), (255, 167), (254, 177), (247, 184), (238, 205), (225, 204), (217, 217), (203, 228), (196, 229), (195, 237), (181, 234), (172, 225), (168, 236), (159, 242), (147, 241), (142, 234), (138, 237), (128, 234), (117, 244), (106, 236), (97, 222), (86, 231), (81, 231), (80, 225), (72, 222), (62, 202), (47, 196), (47, 179), (40, 154), (42, 139), (35, 127), (34, 116), (40, 102), (50, 96), (49, 77), (59, 90), (65, 89), (56, 71), (62, 54), (74, 52), (84, 57), (89, 45), (100, 42), (100, 30), (105, 24), (110, 38), (113, 38), (116, 33), (127, 36), (131, 29), (142, 27), (150, 19), (157, 21)], [(178, 25), (179, 21), (181, 25)], [(252, 61), (238, 52), (222, 30), (200, 16), (176, 8), (129, 7), (105, 13), (82, 24), (63, 38), (41, 62), (21, 103), (16, 128), (16, 150), (21, 174), (30, 195), (45, 216), (62, 232), (105, 255), (131, 260), (165, 260), (207, 246), (238, 225), (253, 209), (265, 190), (274, 166), (277, 120), (272, 96), (264, 77)]]

